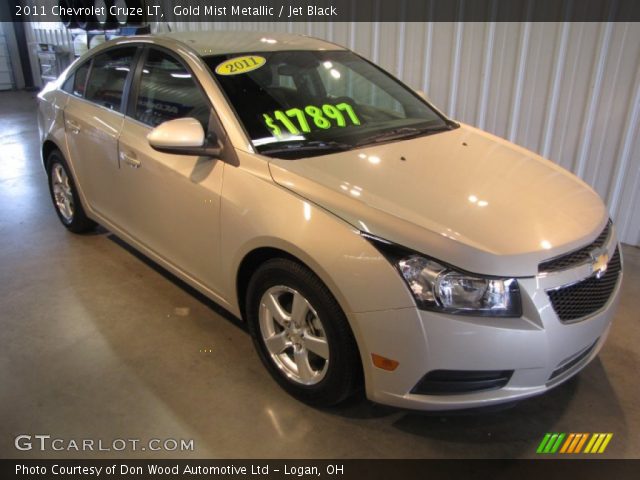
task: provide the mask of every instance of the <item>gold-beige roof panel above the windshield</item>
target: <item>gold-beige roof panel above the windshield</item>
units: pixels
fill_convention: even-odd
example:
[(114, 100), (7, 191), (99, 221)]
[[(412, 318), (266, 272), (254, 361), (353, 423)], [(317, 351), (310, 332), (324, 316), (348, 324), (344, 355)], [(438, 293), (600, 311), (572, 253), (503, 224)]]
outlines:
[(182, 42), (200, 56), (279, 50), (345, 50), (317, 38), (274, 32), (174, 32), (151, 36)]

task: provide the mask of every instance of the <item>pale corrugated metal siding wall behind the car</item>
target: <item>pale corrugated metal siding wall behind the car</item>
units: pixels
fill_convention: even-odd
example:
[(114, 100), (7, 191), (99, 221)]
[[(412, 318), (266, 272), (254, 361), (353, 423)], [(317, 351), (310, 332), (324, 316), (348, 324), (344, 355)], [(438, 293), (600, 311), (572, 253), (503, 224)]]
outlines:
[[(572, 5), (567, 2), (564, 8)], [(45, 31), (52, 30), (51, 24), (40, 27), (32, 25), (34, 39), (68, 45), (69, 35)], [(425, 90), (454, 118), (578, 174), (607, 202), (620, 238), (640, 244), (639, 23), (212, 22), (171, 27), (287, 31), (346, 45)]]

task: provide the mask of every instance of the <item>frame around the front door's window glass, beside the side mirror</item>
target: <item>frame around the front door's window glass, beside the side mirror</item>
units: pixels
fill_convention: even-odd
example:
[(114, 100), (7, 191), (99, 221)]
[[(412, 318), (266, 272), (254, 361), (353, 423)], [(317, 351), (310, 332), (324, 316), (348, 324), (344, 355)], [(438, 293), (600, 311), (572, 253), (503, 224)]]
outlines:
[(202, 99), (209, 107), (209, 122), (207, 126), (207, 131), (205, 132), (205, 138), (208, 140), (209, 134), (214, 133), (218, 138), (218, 141), (223, 146), (220, 159), (225, 161), (226, 163), (230, 163), (232, 165), (238, 165), (239, 164), (238, 157), (235, 153), (235, 148), (233, 147), (233, 145), (231, 144), (231, 141), (229, 140), (229, 135), (227, 134), (227, 131), (225, 130), (224, 126), (222, 125), (222, 122), (220, 121), (220, 117), (216, 112), (213, 102), (211, 102), (209, 95), (207, 94), (205, 89), (202, 87), (202, 84), (200, 83), (200, 80), (198, 79), (198, 77), (196, 77), (193, 69), (189, 67), (189, 65), (187, 65), (187, 63), (182, 58), (180, 58), (179, 55), (177, 55), (172, 50), (166, 47), (163, 47), (161, 45), (142, 45), (140, 50), (141, 51), (139, 52), (137, 63), (135, 64), (135, 68), (133, 69), (133, 74), (130, 75), (129, 83), (127, 85), (127, 97), (126, 97), (127, 103), (125, 105), (125, 110), (124, 110), (124, 114), (126, 118), (136, 123), (139, 123), (140, 125), (144, 125), (149, 130), (153, 130), (154, 127), (136, 118), (136, 106), (138, 103), (138, 95), (140, 94), (142, 70), (144, 69), (144, 65), (147, 61), (147, 58), (149, 57), (149, 53), (151, 52), (151, 50), (162, 52), (167, 56), (169, 56), (171, 59), (178, 62), (191, 75), (191, 80), (193, 80), (196, 87), (198, 88), (198, 91), (202, 96)]

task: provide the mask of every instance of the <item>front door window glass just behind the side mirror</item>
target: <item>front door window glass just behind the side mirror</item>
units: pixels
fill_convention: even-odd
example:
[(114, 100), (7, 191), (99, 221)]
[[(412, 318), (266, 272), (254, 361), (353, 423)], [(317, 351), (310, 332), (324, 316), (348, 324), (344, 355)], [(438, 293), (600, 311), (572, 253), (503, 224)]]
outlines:
[(151, 127), (183, 117), (194, 117), (205, 131), (210, 106), (191, 73), (173, 56), (149, 51), (140, 77), (134, 118)]

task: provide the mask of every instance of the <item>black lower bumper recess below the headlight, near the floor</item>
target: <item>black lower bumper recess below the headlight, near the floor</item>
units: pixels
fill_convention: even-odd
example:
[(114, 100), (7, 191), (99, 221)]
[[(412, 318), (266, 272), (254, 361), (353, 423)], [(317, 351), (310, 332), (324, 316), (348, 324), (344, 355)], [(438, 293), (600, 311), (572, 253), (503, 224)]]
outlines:
[(504, 387), (513, 370), (433, 370), (411, 390), (419, 395), (460, 395)]

